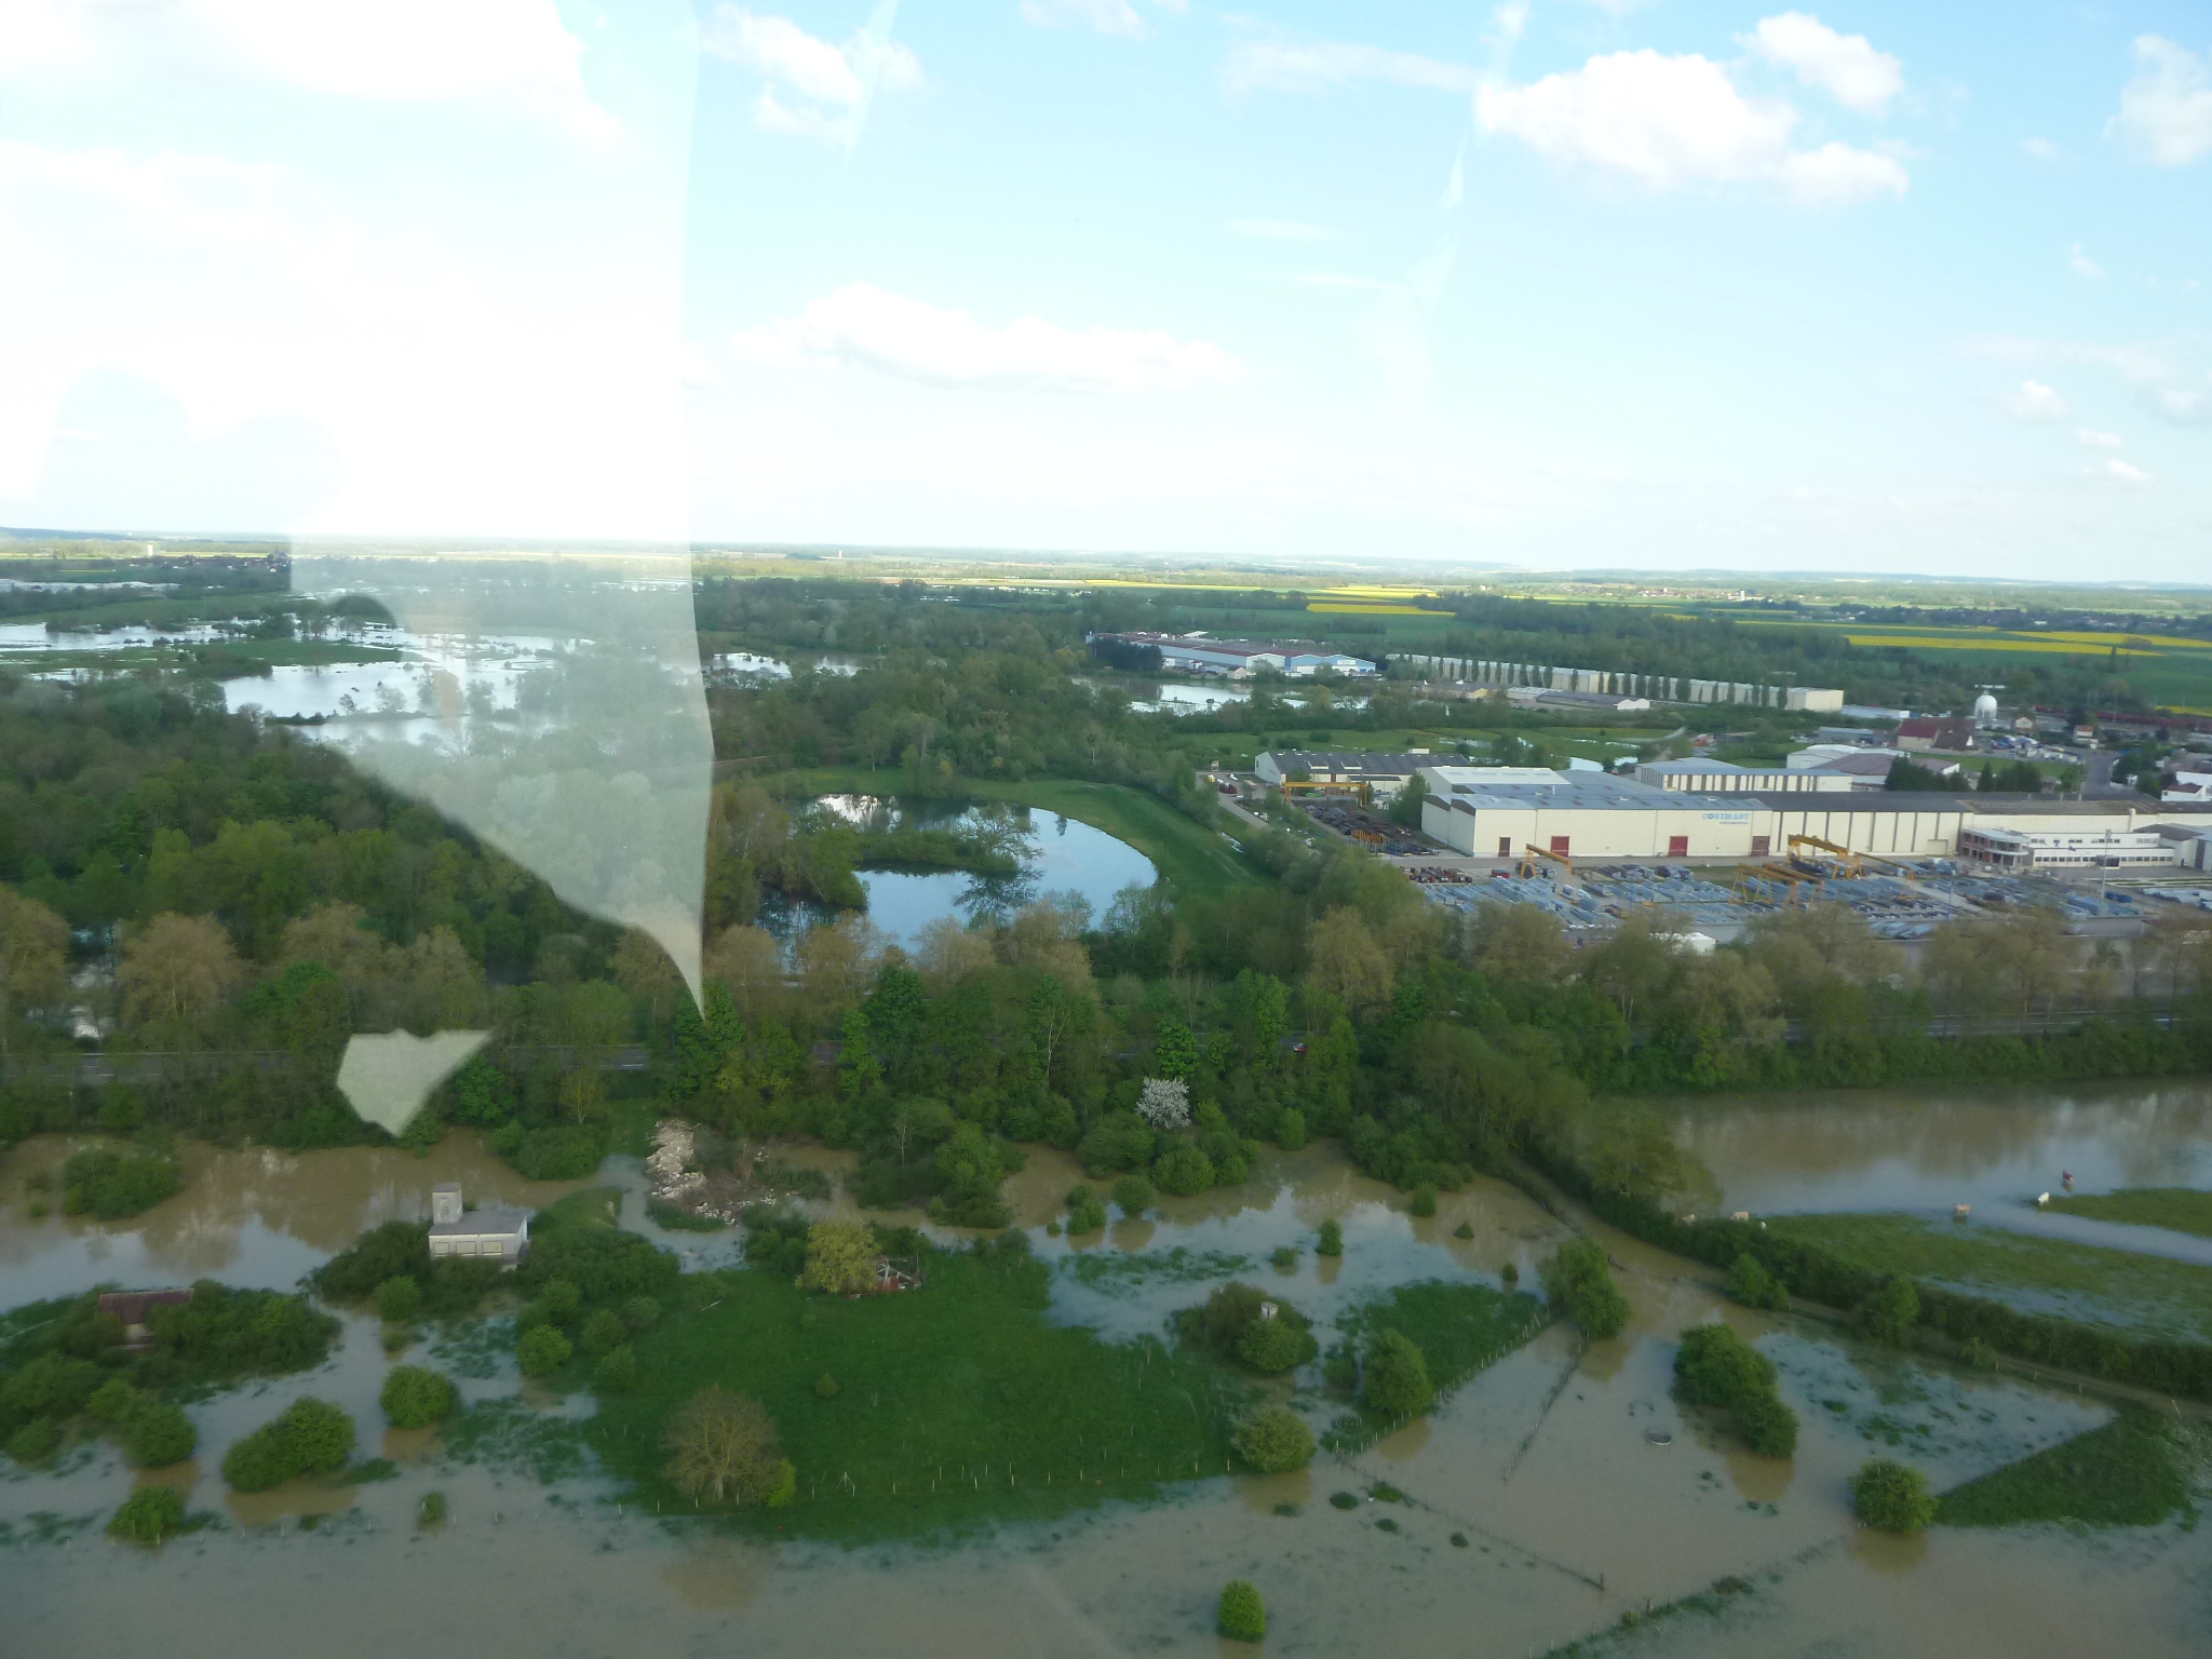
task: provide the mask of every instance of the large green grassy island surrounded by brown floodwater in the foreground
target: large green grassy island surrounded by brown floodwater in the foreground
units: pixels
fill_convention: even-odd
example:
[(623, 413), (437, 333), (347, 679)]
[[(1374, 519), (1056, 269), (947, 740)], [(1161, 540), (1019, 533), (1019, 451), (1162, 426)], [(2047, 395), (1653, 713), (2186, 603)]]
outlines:
[[(1046, 1325), (1051, 1272), (1026, 1250), (929, 1256), (929, 1283), (843, 1301), (768, 1272), (686, 1281), (695, 1312), (637, 1338), (644, 1385), (591, 1438), (639, 1500), (690, 1513), (661, 1478), (661, 1420), (710, 1383), (783, 1433), (799, 1498), (750, 1524), (869, 1540), (1055, 1515), (1219, 1475), (1248, 1389), (1157, 1340)], [(834, 1387), (825, 1387), (823, 1380)]]

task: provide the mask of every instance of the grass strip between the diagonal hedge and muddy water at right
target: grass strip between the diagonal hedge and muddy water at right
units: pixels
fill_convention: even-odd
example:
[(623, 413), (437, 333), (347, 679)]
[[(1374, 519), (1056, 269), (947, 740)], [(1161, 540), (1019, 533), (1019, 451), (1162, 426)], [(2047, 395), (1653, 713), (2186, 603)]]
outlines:
[(1902, 1214), (1801, 1214), (1767, 1223), (1871, 1272), (1900, 1272), (2028, 1314), (2126, 1336), (2212, 1340), (2212, 1267), (2168, 1256)]

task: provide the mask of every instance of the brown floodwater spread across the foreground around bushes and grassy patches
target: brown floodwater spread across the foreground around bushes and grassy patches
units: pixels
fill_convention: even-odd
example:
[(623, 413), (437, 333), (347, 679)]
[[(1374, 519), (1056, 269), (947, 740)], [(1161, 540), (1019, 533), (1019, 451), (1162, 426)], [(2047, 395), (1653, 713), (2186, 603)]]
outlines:
[[(436, 1179), (540, 1203), (573, 1186), (502, 1177), (467, 1141), (427, 1161), (195, 1152), (195, 1186), (173, 1201), (201, 1217), (195, 1225), (161, 1212), (97, 1230), (31, 1223), (22, 1175), (58, 1152), (33, 1146), (0, 1166), (0, 1305), (51, 1294), (24, 1285), (73, 1287), (115, 1261), (144, 1261), (161, 1279), (221, 1272), (288, 1283), (294, 1263), (312, 1265), (363, 1225), (427, 1210)], [(838, 1155), (816, 1157), (841, 1166)], [(617, 1161), (613, 1175), (635, 1190), (635, 1166)], [(1042, 1228), (1079, 1179), (1064, 1155), (1033, 1155), (1009, 1183), (1020, 1221)], [(628, 1221), (637, 1212), (626, 1203)], [(1316, 1261), (1312, 1234), (1332, 1214), (1345, 1225), (1345, 1256)], [(1462, 1221), (1471, 1239), (1453, 1237)], [(88, 1254), (86, 1237), (106, 1254)], [(1493, 1181), (1442, 1194), (1433, 1219), (1416, 1219), (1402, 1194), (1329, 1150), (1307, 1150), (1270, 1155), (1245, 1188), (1117, 1217), (1104, 1237), (1033, 1237), (1057, 1270), (1055, 1316), (1119, 1336), (1157, 1332), (1168, 1310), (1228, 1276), (1274, 1285), (1323, 1321), (1407, 1279), (1495, 1281), (1511, 1263), (1533, 1287), (1535, 1263), (1564, 1234)], [(104, 1442), (66, 1451), (53, 1471), (0, 1462), (0, 1522), (13, 1540), (0, 1544), (0, 1650), (228, 1659), (312, 1644), (334, 1659), (396, 1650), (1210, 1659), (1250, 1652), (1210, 1628), (1221, 1584), (1250, 1577), (1267, 1597), (1267, 1652), (1504, 1657), (1619, 1630), (1626, 1615), (1736, 1575), (1754, 1588), (1719, 1617), (1619, 1630), (1626, 1650), (1949, 1659), (2124, 1641), (2148, 1659), (2201, 1652), (2212, 1528), (1944, 1531), (1898, 1544), (1849, 1515), (1847, 1475), (1891, 1442), (1942, 1489), (2093, 1427), (2101, 1407), (1856, 1349), (1825, 1329), (1725, 1305), (1692, 1267), (1632, 1239), (1606, 1230), (1599, 1239), (1632, 1310), (1621, 1336), (1586, 1347), (1551, 1327), (1360, 1458), (1190, 1482), (1155, 1506), (1113, 1504), (991, 1537), (854, 1551), (763, 1546), (639, 1517), (591, 1478), (546, 1489), (520, 1469), (456, 1464), (434, 1433), (369, 1436), (363, 1455), (392, 1458), (392, 1480), (226, 1498), (221, 1451), (299, 1394), (332, 1398), (365, 1427), (380, 1422), (374, 1396), (387, 1356), (374, 1321), (349, 1316), (321, 1371), (195, 1405), (195, 1464), (135, 1475)], [(695, 1261), (728, 1250), (721, 1237), (670, 1243)], [(1298, 1254), (1276, 1270), (1270, 1254), (1283, 1245)], [(188, 1267), (217, 1259), (223, 1265)], [(1736, 1325), (1778, 1365), (1803, 1420), (1796, 1458), (1756, 1458), (1670, 1398), (1674, 1340), (1710, 1318)], [(520, 1391), (504, 1356), (489, 1371), (462, 1380), (469, 1398), (591, 1409), (588, 1398)], [(135, 1480), (188, 1486), (192, 1506), (223, 1524), (159, 1551), (111, 1544), (100, 1522)], [(1405, 1502), (1367, 1502), (1378, 1480)], [(447, 1493), (451, 1513), (425, 1531), (414, 1517), (431, 1489)], [(1363, 1502), (1338, 1511), (1336, 1491)]]

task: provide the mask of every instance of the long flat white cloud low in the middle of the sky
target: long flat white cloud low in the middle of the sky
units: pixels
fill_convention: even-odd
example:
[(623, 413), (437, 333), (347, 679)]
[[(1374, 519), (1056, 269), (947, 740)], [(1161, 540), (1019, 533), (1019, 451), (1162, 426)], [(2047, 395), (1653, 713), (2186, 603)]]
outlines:
[(1159, 330), (1068, 330), (1042, 316), (989, 327), (967, 312), (849, 283), (787, 321), (730, 341), (748, 363), (847, 363), (933, 387), (1183, 392), (1239, 378), (1217, 345)]

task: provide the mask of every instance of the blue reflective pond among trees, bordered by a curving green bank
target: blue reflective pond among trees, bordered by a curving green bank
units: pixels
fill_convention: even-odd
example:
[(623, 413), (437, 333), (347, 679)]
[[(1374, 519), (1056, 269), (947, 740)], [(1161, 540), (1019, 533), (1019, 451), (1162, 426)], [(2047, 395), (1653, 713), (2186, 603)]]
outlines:
[(821, 805), (854, 823), (911, 830), (1002, 827), (1022, 869), (1015, 876), (978, 876), (964, 869), (863, 869), (867, 918), (898, 945), (914, 945), (922, 929), (951, 918), (962, 927), (1004, 922), (1044, 896), (1075, 894), (1104, 920), (1124, 887), (1159, 880), (1152, 860), (1126, 841), (1062, 812), (1040, 812), (1004, 801), (887, 801), (869, 794), (825, 794)]

